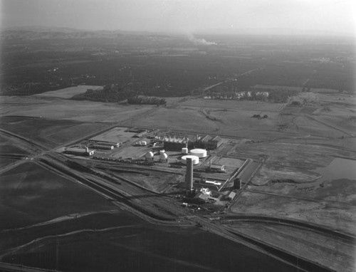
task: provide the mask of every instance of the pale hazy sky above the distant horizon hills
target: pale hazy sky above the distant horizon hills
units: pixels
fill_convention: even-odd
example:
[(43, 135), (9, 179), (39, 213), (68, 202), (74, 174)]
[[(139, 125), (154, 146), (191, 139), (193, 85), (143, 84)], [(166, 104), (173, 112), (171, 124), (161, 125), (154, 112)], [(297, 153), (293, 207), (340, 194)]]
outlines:
[(1, 26), (197, 31), (293, 28), (355, 33), (356, 0), (2, 0)]

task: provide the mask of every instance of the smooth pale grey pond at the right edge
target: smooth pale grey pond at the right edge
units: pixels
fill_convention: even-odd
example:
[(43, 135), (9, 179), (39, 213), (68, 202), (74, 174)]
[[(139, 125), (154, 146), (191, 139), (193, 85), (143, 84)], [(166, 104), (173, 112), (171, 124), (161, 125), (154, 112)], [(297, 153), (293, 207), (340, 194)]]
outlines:
[(336, 158), (328, 167), (315, 169), (323, 175), (323, 179), (355, 179), (356, 180), (356, 160)]

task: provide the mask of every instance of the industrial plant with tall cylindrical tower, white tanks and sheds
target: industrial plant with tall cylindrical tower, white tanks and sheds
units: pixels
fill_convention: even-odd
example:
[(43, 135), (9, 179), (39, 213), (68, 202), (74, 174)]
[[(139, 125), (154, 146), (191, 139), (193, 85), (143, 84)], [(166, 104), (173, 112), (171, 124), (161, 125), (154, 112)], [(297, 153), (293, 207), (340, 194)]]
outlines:
[(226, 156), (222, 151), (231, 142), (216, 135), (114, 127), (58, 151), (82, 162), (89, 160), (90, 165), (103, 167), (103, 161), (110, 162), (108, 169), (120, 165), (132, 169), (150, 167), (175, 174), (177, 182), (162, 180), (167, 184), (161, 186), (165, 193), (177, 194), (183, 206), (211, 204), (216, 209), (226, 209), (258, 167), (251, 159)]

